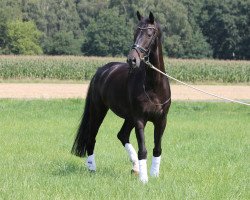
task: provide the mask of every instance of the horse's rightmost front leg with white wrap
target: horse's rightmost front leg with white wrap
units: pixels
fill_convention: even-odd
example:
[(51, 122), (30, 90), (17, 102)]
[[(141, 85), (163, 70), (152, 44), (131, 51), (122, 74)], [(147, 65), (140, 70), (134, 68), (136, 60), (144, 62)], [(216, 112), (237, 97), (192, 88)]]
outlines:
[(154, 150), (152, 165), (150, 169), (150, 175), (153, 177), (158, 177), (160, 172), (160, 163), (161, 163), (161, 139), (166, 127), (166, 118), (157, 121), (154, 123)]

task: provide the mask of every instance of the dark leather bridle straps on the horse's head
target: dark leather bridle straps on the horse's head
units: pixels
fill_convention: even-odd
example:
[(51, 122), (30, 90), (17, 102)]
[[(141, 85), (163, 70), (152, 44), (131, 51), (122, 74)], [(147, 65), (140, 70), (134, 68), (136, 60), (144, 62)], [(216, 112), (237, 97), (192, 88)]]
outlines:
[[(155, 26), (147, 26), (147, 27), (140, 27), (139, 26), (138, 29), (139, 30), (147, 30), (147, 29), (154, 29), (155, 30), (154, 35), (152, 36), (147, 49), (143, 48), (142, 46), (140, 46), (139, 44), (136, 44), (136, 43), (132, 45), (132, 49), (134, 49), (138, 53), (138, 56), (139, 56), (140, 60), (148, 61), (151, 46), (152, 46), (153, 41), (155, 40), (156, 35), (157, 35), (157, 29), (156, 29)], [(141, 57), (139, 52), (143, 53), (144, 56)]]

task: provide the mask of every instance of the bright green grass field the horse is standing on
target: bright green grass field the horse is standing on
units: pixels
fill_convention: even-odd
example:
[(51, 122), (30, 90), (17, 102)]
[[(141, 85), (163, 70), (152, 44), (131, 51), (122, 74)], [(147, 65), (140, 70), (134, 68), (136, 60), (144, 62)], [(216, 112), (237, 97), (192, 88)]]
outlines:
[[(173, 102), (160, 177), (142, 185), (109, 112), (96, 144), (97, 172), (70, 148), (83, 100), (0, 100), (0, 199), (250, 199), (250, 109)], [(146, 128), (151, 164), (153, 127)], [(132, 135), (135, 144), (135, 136)]]

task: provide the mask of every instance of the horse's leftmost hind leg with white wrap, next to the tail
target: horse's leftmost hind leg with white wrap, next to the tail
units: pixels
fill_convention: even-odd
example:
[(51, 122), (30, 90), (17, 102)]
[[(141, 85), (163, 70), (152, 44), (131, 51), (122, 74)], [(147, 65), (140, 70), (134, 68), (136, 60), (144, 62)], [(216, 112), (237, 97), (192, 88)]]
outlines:
[(98, 130), (103, 122), (104, 117), (107, 114), (108, 109), (105, 105), (91, 105), (91, 113), (90, 113), (90, 136), (88, 138), (88, 144), (87, 144), (87, 167), (90, 171), (96, 171), (96, 164), (95, 164), (95, 155), (94, 155), (94, 148), (96, 143), (96, 135), (98, 133)]

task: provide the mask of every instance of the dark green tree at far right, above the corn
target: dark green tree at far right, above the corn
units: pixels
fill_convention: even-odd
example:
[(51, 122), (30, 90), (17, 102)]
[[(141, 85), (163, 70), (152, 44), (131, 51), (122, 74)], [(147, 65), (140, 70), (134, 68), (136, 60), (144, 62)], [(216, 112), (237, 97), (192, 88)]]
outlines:
[[(213, 57), (250, 59), (250, 2), (205, 0), (200, 27), (213, 48)], [(247, 50), (248, 49), (248, 50)]]

